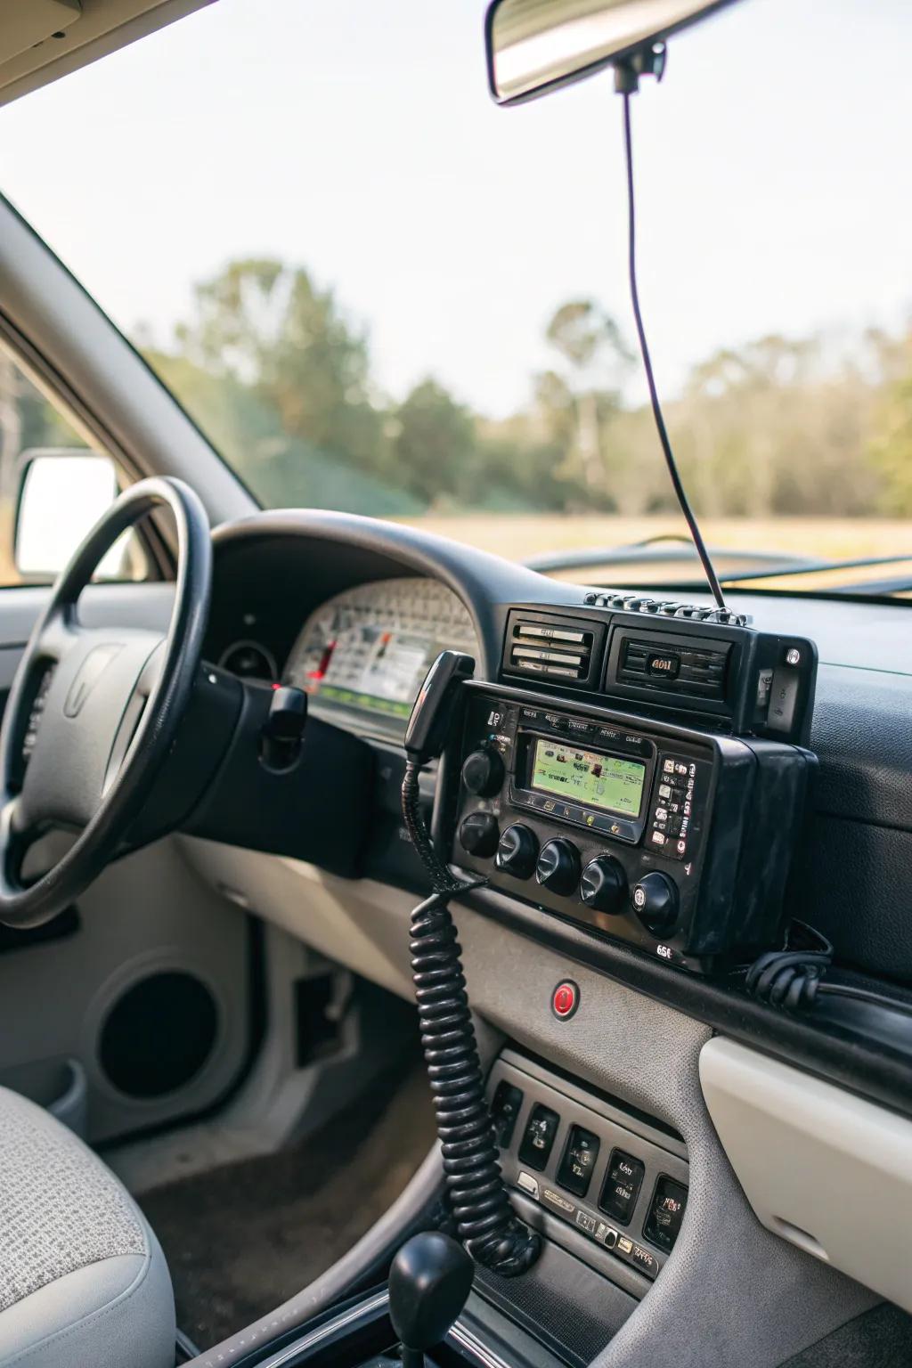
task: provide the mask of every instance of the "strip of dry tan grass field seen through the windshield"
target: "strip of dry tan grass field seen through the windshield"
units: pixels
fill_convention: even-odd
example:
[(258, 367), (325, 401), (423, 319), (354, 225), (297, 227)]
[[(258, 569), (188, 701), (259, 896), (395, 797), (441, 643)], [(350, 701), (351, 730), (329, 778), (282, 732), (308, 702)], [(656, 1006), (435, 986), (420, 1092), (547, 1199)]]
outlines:
[[(543, 551), (572, 551), (598, 547), (623, 546), (644, 538), (665, 532), (685, 532), (682, 518), (658, 517), (585, 517), (559, 514), (459, 514), (427, 516), (409, 520), (412, 525), (453, 536), (485, 551), (495, 551), (510, 560), (525, 560)], [(701, 523), (706, 542), (712, 549), (747, 551), (783, 551), (789, 555), (820, 560), (842, 560), (846, 557), (901, 555), (908, 561), (890, 566), (871, 566), (867, 570), (852, 570), (852, 580), (882, 579), (885, 575), (912, 577), (912, 521), (900, 518), (707, 518)], [(719, 558), (721, 562), (723, 557)], [(665, 575), (680, 577), (684, 566), (665, 568)], [(596, 583), (607, 583), (604, 575), (589, 572)], [(662, 573), (662, 572), (659, 572)], [(569, 576), (585, 580), (582, 572)], [(842, 572), (845, 577), (845, 572)], [(647, 584), (651, 576), (625, 566), (623, 575), (615, 575), (611, 583)], [(775, 587), (775, 581), (767, 581)], [(803, 576), (803, 588), (834, 586), (837, 579), (826, 576)]]

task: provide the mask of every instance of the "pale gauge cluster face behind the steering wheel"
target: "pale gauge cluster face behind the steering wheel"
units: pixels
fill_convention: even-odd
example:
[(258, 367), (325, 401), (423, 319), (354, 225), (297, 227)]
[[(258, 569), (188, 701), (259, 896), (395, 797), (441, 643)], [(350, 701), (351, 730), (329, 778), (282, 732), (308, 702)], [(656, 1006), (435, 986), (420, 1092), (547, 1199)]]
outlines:
[(295, 642), (286, 679), (317, 710), (366, 714), (401, 732), (432, 661), (444, 650), (476, 654), (465, 605), (436, 580), (360, 584), (324, 603)]

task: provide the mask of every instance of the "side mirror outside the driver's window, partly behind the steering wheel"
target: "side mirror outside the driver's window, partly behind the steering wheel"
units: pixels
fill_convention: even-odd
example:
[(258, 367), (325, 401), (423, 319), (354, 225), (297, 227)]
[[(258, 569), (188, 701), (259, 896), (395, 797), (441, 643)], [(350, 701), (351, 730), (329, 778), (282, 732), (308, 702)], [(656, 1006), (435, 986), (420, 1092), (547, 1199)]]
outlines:
[[(23, 451), (21, 472), (15, 566), (25, 580), (51, 580), (116, 499), (118, 471), (108, 456), (60, 447)], [(98, 577), (129, 577), (129, 544), (127, 536), (115, 542)]]

